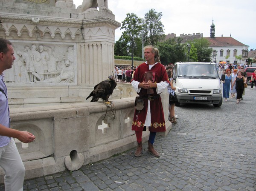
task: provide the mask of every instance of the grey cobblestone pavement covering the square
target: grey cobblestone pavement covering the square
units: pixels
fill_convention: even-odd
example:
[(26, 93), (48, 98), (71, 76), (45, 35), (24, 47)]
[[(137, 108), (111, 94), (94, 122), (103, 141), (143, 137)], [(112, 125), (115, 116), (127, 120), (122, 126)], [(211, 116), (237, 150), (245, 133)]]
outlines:
[[(25, 191), (256, 191), (256, 89), (244, 100), (175, 107), (177, 124), (157, 136), (159, 158), (134, 149), (24, 182)], [(3, 185), (0, 191), (3, 191)]]

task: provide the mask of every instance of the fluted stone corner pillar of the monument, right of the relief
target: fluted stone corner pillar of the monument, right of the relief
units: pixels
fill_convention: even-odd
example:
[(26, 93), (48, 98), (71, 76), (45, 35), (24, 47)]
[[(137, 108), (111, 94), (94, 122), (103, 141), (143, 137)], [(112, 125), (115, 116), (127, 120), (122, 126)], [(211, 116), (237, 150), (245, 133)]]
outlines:
[(84, 18), (84, 42), (77, 46), (78, 85), (95, 86), (113, 75), (115, 29), (120, 23), (107, 10), (87, 12), (80, 16)]

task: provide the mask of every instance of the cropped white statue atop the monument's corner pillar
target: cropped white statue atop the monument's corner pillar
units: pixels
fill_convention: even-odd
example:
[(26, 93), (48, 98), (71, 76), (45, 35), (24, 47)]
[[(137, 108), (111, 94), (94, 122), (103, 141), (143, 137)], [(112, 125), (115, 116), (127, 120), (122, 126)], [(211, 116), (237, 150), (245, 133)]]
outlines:
[[(108, 10), (108, 0), (83, 0), (81, 5), (82, 12), (90, 12), (99, 10)], [(111, 11), (110, 11), (111, 12)]]

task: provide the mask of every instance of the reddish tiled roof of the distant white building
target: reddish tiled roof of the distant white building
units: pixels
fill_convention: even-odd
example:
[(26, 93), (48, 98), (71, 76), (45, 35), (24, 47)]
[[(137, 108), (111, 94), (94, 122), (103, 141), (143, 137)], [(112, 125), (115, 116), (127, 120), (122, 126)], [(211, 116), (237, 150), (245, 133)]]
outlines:
[(243, 43), (240, 43), (238, 40), (234, 39), (233, 37), (204, 37), (210, 42), (211, 47), (224, 47), (224, 46), (247, 46)]

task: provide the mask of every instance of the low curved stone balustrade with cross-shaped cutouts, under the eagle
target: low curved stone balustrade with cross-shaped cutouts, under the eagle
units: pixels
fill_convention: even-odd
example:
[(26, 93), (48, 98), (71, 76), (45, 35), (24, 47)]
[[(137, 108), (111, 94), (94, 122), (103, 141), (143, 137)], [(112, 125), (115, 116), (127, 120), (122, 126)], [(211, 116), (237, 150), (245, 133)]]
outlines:
[[(135, 93), (130, 84), (119, 84), (122, 99), (111, 104), (99, 102), (69, 103), (29, 108), (11, 108), (11, 127), (29, 131), (36, 136), (32, 143), (16, 141), (26, 168), (25, 179), (45, 176), (96, 162), (122, 153), (137, 145), (135, 132), (131, 130), (134, 115)], [(132, 92), (132, 93), (131, 93)], [(129, 97), (132, 96), (132, 97)], [(121, 98), (120, 97), (120, 98)], [(161, 95), (167, 131), (167, 91)], [(149, 132), (143, 133), (143, 141)], [(0, 182), (4, 172), (0, 169)]]

